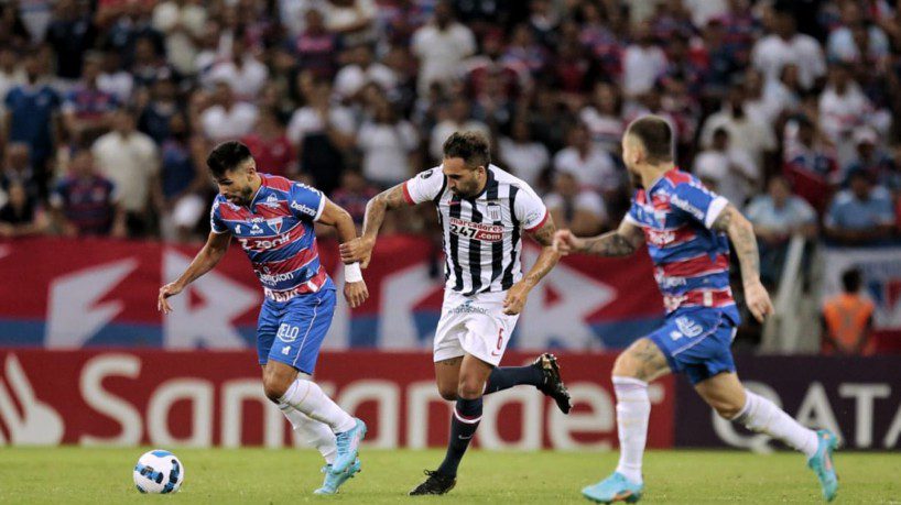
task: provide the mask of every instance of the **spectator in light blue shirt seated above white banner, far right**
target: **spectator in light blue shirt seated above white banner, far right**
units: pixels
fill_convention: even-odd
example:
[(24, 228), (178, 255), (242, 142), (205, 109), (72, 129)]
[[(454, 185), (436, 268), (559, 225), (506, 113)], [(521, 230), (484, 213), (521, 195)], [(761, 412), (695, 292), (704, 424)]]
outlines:
[(894, 229), (891, 195), (873, 186), (865, 172), (848, 174), (849, 188), (839, 191), (825, 218), (826, 237), (840, 245), (884, 244)]

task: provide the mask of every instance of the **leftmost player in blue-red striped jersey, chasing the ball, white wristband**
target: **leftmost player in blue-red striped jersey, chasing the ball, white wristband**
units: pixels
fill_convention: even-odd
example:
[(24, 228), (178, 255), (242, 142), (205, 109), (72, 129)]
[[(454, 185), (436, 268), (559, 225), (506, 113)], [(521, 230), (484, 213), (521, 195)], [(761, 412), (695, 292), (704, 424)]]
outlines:
[[(317, 494), (334, 494), (360, 471), (357, 458), (366, 425), (333, 402), (312, 381), (319, 347), (335, 310), (335, 285), (319, 263), (315, 222), (335, 227), (338, 239), (357, 237), (350, 215), (322, 191), (284, 177), (257, 172), (250, 150), (225, 142), (207, 157), (219, 186), (206, 245), (177, 281), (160, 288), (158, 308), (213, 270), (234, 237), (263, 285), (257, 352), (263, 389), (291, 426), (326, 460)], [(350, 307), (369, 296), (357, 263), (345, 264), (344, 295)]]

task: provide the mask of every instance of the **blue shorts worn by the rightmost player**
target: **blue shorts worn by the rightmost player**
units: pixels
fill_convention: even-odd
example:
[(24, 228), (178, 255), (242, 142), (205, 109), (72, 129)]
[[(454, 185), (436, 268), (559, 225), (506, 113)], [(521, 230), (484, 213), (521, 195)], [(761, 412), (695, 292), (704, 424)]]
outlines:
[(736, 327), (721, 310), (699, 308), (669, 316), (649, 334), (666, 356), (670, 370), (697, 384), (723, 372), (735, 372), (732, 339)]

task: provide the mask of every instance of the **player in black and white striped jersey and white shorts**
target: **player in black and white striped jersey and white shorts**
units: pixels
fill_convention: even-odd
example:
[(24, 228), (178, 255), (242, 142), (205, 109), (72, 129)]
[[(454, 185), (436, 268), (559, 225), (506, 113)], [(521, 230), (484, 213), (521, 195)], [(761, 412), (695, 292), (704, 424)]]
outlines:
[[(554, 222), (528, 184), (491, 165), (488, 140), (456, 132), (444, 143), (441, 166), (369, 201), (363, 232), (341, 245), (345, 262), (369, 263), (389, 209), (431, 201), (437, 206), (446, 255), (442, 317), (435, 330), (435, 378), (442, 397), (456, 400), (447, 455), (412, 495), (444, 494), (481, 419), (481, 397), (520, 384), (538, 387), (568, 413), (569, 394), (556, 359), (499, 367), (529, 292), (556, 265)], [(521, 271), (522, 233), (542, 245), (528, 274)]]

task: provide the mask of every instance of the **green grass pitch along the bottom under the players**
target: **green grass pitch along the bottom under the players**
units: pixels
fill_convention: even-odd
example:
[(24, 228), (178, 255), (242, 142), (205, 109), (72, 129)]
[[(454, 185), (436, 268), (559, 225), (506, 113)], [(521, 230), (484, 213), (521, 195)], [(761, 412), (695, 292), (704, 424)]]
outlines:
[[(314, 496), (319, 455), (296, 449), (178, 449), (185, 483), (174, 495), (141, 495), (131, 469), (144, 449), (2, 448), (0, 503), (588, 503), (579, 490), (616, 465), (616, 452), (466, 454), (457, 487), (441, 497), (406, 492), (444, 451), (363, 450), (362, 473), (336, 496)], [(901, 504), (901, 453), (838, 452), (837, 503)], [(650, 451), (642, 503), (819, 503), (804, 458), (789, 452)]]

